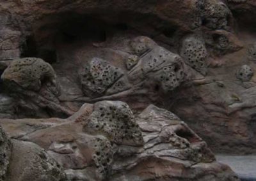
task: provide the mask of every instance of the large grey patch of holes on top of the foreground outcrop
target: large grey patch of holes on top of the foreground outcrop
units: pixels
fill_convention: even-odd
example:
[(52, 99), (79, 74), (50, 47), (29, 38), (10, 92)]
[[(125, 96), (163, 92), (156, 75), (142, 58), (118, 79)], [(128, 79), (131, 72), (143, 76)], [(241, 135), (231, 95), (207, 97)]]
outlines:
[(103, 133), (117, 144), (124, 141), (141, 144), (143, 138), (131, 109), (125, 103), (115, 106), (106, 102), (96, 103), (97, 109), (90, 115), (88, 127), (97, 133)]

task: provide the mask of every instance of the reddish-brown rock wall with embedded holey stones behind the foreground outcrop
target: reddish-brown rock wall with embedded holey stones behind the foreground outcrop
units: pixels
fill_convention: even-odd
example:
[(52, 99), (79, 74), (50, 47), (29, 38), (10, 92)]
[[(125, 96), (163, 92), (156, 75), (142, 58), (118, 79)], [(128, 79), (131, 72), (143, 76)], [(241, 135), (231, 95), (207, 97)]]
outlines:
[[(255, 12), (254, 0), (3, 1), (0, 117), (67, 119), (84, 103), (105, 100), (124, 101), (136, 113), (154, 104), (178, 115), (216, 152), (255, 153)], [(103, 117), (93, 116), (97, 129), (84, 130), (131, 142), (124, 130), (109, 133), (114, 124)], [(110, 127), (103, 133), (104, 123)], [(128, 129), (134, 121), (121, 123)], [(129, 136), (140, 139), (130, 128)], [(104, 161), (106, 168), (97, 162), (103, 178), (112, 162)]]

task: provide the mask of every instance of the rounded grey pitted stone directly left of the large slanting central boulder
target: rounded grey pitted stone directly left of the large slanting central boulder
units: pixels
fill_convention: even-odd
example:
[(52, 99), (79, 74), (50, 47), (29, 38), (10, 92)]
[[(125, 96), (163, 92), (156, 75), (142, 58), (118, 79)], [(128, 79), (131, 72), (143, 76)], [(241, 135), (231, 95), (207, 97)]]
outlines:
[(94, 58), (81, 71), (80, 80), (84, 94), (99, 96), (122, 76), (119, 68), (111, 66), (102, 59)]

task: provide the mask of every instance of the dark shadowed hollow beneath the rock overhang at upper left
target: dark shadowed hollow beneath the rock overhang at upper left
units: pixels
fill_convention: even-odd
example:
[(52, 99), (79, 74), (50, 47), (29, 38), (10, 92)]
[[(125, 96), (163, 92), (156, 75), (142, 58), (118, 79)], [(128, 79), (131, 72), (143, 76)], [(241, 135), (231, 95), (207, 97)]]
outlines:
[(129, 26), (122, 22), (109, 24), (77, 13), (63, 13), (43, 18), (34, 28), (33, 34), (26, 37), (22, 45), (21, 57), (39, 57), (54, 64), (61, 61), (58, 52), (66, 45), (77, 48), (79, 44), (83, 46), (89, 42), (104, 42), (113, 32), (126, 31)]

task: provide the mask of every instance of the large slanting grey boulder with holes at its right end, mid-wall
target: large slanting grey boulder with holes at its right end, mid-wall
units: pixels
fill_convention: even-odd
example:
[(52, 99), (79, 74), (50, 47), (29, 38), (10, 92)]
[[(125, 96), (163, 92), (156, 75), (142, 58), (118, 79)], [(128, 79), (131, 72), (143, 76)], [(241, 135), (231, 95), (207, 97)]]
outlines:
[(186, 76), (179, 55), (160, 47), (144, 36), (136, 37), (131, 41), (140, 42), (141, 47), (150, 47), (143, 52), (143, 56), (139, 56), (138, 64), (129, 71), (131, 80), (155, 82), (164, 92), (173, 91), (184, 82)]

